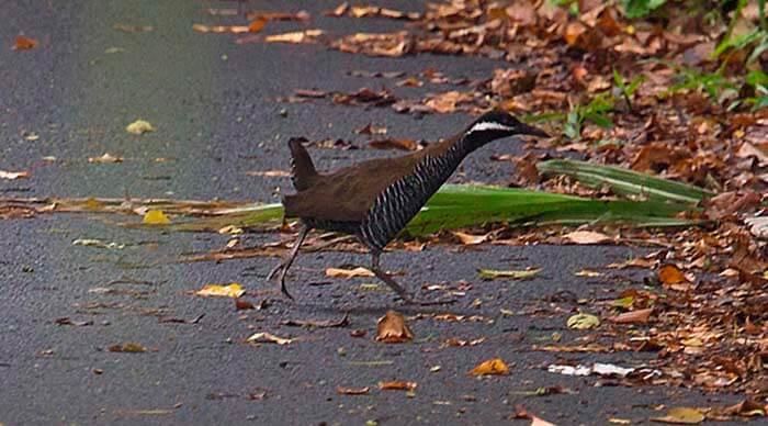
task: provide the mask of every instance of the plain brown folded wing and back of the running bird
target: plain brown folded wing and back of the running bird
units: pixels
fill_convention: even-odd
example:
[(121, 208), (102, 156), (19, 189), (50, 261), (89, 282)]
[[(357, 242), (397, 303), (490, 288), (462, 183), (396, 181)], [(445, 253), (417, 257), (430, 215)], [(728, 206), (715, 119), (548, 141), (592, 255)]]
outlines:
[(381, 158), (318, 175), (313, 186), (283, 198), (285, 215), (325, 221), (362, 222), (386, 187), (409, 173), (422, 152), (399, 158)]

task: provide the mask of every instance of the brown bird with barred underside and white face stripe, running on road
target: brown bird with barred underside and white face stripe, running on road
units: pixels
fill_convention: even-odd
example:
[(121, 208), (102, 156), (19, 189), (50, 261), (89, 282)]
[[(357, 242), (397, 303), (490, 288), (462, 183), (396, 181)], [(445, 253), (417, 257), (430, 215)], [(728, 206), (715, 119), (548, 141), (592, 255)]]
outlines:
[[(285, 276), (298, 248), (312, 229), (357, 236), (371, 254), (371, 270), (406, 303), (408, 292), (382, 270), (384, 247), (416, 216), (427, 200), (453, 175), (475, 149), (496, 139), (546, 132), (522, 123), (512, 114), (492, 110), (456, 135), (414, 153), (375, 158), (329, 173), (318, 173), (303, 138), (291, 138), (291, 180), (296, 193), (282, 199), (285, 217), (297, 217), (301, 227), (289, 254), (267, 277), (280, 271), (280, 291), (293, 300)], [(427, 303), (425, 303), (427, 304)]]

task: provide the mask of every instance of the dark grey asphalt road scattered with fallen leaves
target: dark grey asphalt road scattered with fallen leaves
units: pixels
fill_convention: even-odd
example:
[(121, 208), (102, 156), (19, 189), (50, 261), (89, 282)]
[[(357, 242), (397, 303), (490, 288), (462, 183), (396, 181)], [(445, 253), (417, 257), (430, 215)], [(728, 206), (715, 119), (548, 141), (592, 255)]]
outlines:
[[(386, 2), (420, 10), (414, 2)], [(389, 31), (398, 23), (330, 19), (320, 11), (335, 2), (310, 2), (310, 27), (332, 33)], [(290, 190), (285, 178), (247, 176), (249, 170), (287, 168), (290, 136), (332, 137), (364, 144), (353, 133), (370, 122), (393, 137), (436, 139), (471, 120), (462, 114), (413, 115), (391, 109), (279, 103), (294, 89), (353, 91), (386, 83), (395, 93), (416, 97), (445, 90), (397, 88), (392, 81), (350, 77), (351, 70), (418, 72), (436, 68), (451, 77), (485, 78), (504, 64), (482, 58), (418, 56), (368, 58), (318, 45), (233, 43), (231, 35), (199, 34), (193, 23), (226, 22), (208, 7), (227, 2), (15, 0), (0, 16), (0, 170), (31, 170), (26, 180), (0, 180), (3, 197), (171, 197), (272, 202)], [(251, 1), (247, 9), (285, 10), (297, 5)], [(113, 29), (116, 23), (151, 25), (146, 33)], [(270, 23), (279, 33), (296, 23)], [(18, 34), (39, 47), (11, 48)], [(287, 114), (280, 114), (281, 110)], [(136, 119), (157, 132), (140, 137), (125, 126)], [(30, 141), (30, 134), (39, 137)], [(33, 137), (34, 138), (34, 137)], [(458, 181), (504, 182), (512, 171), (492, 154), (519, 153), (504, 141), (475, 153)], [(104, 153), (125, 157), (114, 165), (89, 164)], [(334, 168), (389, 152), (312, 150), (318, 167)], [(55, 161), (43, 157), (54, 156)], [(167, 161), (158, 162), (162, 157)], [(74, 246), (77, 238), (126, 244), (123, 249)], [(244, 244), (274, 240), (248, 235)], [(275, 300), (261, 311), (237, 312), (231, 300), (190, 294), (208, 282), (241, 282), (249, 291), (273, 289), (264, 276), (273, 258), (222, 264), (179, 264), (180, 255), (221, 248), (221, 235), (160, 234), (125, 229), (104, 217), (38, 215), (0, 221), (0, 424), (495, 424), (521, 404), (560, 425), (607, 424), (611, 417), (644, 423), (659, 404), (709, 406), (735, 401), (671, 388), (596, 386), (598, 378), (553, 374), (557, 360), (583, 363), (642, 363), (648, 355), (552, 354), (532, 351), (553, 333), (572, 341), (565, 328), (578, 299), (610, 299), (642, 283), (643, 273), (609, 271), (606, 277), (574, 276), (643, 253), (612, 246), (481, 246), (465, 250), (430, 246), (421, 253), (395, 250), (383, 257), (391, 270), (405, 270), (410, 289), (465, 280), (472, 284), (460, 303), (417, 309), (395, 302), (386, 291), (361, 285), (371, 280), (329, 280), (326, 267), (366, 265), (345, 253), (302, 255), (291, 277), (296, 304)], [(482, 281), (476, 268), (542, 267), (528, 281)], [(133, 280), (134, 283), (115, 282)], [(135, 283), (135, 282), (143, 283)], [(105, 293), (99, 288), (112, 289)], [(95, 290), (94, 290), (95, 289)], [(555, 299), (553, 299), (553, 296)], [(255, 301), (260, 298), (251, 298)], [(473, 301), (479, 300), (482, 303)], [(439, 322), (413, 317), (416, 339), (385, 345), (373, 340), (376, 318), (395, 307), (407, 316), (450, 311), (482, 315), (484, 322)], [(505, 316), (501, 310), (516, 312)], [(547, 315), (529, 315), (540, 309)], [(334, 320), (349, 313), (350, 325), (306, 329), (284, 320)], [(162, 322), (168, 318), (194, 324)], [(90, 322), (57, 325), (56, 320)], [(365, 329), (362, 338), (352, 329)], [(290, 345), (245, 345), (263, 330), (298, 338)], [(448, 338), (486, 340), (474, 347), (441, 347)], [(144, 354), (108, 348), (136, 341)], [(501, 357), (508, 375), (475, 379), (467, 371)], [(440, 366), (440, 370), (430, 369)], [(383, 380), (416, 381), (413, 395), (379, 391)], [(540, 386), (564, 385), (573, 393), (530, 396)], [(368, 395), (339, 395), (337, 386), (371, 386)], [(249, 396), (253, 395), (253, 396)], [(520, 421), (523, 424), (524, 421)], [(530, 421), (529, 421), (530, 422)]]

